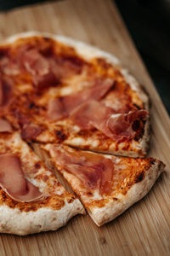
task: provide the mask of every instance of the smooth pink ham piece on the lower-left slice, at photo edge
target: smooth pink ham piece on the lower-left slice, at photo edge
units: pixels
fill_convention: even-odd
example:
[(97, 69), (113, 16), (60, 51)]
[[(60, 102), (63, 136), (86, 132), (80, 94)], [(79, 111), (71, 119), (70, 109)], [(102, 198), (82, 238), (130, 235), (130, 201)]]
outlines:
[(0, 187), (14, 201), (28, 202), (42, 199), (39, 189), (30, 183), (14, 154), (0, 154)]

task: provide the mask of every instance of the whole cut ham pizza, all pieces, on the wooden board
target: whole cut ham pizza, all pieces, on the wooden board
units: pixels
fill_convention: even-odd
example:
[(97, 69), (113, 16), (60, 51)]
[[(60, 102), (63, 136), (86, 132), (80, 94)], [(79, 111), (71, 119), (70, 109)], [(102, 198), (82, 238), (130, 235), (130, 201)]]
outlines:
[(8, 38), (0, 45), (0, 232), (57, 230), (84, 208), (98, 225), (116, 218), (164, 169), (144, 158), (149, 133), (149, 98), (115, 56), (48, 33)]

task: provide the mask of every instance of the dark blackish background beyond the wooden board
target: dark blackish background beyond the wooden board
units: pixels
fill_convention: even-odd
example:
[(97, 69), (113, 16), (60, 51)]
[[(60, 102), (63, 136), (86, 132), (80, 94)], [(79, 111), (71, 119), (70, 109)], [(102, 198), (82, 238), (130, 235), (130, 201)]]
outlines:
[[(0, 11), (45, 1), (47, 0), (0, 0)], [(115, 2), (170, 113), (170, 0)]]

